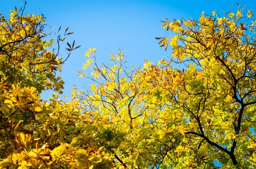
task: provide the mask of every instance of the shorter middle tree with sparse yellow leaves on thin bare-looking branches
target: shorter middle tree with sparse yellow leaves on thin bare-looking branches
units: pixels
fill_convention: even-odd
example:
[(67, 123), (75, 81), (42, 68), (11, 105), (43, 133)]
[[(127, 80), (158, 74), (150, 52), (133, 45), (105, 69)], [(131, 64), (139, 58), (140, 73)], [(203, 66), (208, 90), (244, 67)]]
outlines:
[[(152, 92), (151, 98), (145, 92), (151, 85), (157, 87), (156, 84), (148, 83), (152, 76), (168, 83), (158, 71), (169, 67), (170, 62), (161, 60), (158, 66), (146, 62), (143, 68), (130, 70), (125, 67), (127, 56), (120, 50), (116, 55), (110, 55), (112, 63), (102, 63), (101, 67), (95, 61), (95, 52), (96, 49), (86, 52), (87, 56), (91, 54), (94, 57), (94, 61), (89, 58), (84, 64), (84, 69), (89, 65), (93, 69), (89, 78), (95, 83), (86, 92), (74, 89), (73, 98), (80, 100), (80, 104), (85, 105), (87, 112), (93, 115), (90, 125), (97, 131), (105, 151), (114, 154), (116, 165), (125, 168), (158, 168), (165, 156), (177, 154), (175, 147), (180, 144), (178, 138), (181, 137), (178, 133), (170, 132), (169, 124), (165, 124), (167, 115), (163, 112), (166, 107), (158, 100), (162, 95), (161, 89)], [(82, 71), (79, 71), (79, 76), (88, 77)], [(176, 123), (180, 122), (177, 120)]]

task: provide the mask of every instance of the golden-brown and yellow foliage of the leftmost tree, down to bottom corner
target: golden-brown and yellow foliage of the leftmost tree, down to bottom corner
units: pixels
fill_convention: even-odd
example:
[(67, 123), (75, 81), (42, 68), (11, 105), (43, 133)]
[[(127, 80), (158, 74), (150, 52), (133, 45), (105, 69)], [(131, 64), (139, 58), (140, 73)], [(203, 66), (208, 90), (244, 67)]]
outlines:
[[(87, 115), (76, 102), (61, 102), (56, 94), (40, 99), (43, 90), (63, 89), (55, 72), (65, 61), (58, 56), (65, 37), (57, 33), (57, 44), (48, 41), (45, 18), (24, 9), (0, 17), (0, 169), (110, 168), (104, 146), (79, 125)], [(67, 29), (64, 36), (72, 34)], [(79, 47), (67, 46), (67, 57)]]

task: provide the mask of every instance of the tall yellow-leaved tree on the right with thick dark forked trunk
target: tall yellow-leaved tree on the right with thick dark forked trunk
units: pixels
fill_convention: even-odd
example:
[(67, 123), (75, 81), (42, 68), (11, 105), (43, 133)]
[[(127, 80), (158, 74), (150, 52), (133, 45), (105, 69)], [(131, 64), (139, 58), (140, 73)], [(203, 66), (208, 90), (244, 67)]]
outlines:
[(167, 39), (172, 57), (187, 68), (176, 81), (173, 111), (187, 119), (185, 133), (197, 140), (184, 145), (204, 151), (193, 155), (197, 161), (255, 167), (255, 20), (251, 10), (240, 8), (223, 17), (202, 13), (199, 21), (167, 20), (176, 33)]

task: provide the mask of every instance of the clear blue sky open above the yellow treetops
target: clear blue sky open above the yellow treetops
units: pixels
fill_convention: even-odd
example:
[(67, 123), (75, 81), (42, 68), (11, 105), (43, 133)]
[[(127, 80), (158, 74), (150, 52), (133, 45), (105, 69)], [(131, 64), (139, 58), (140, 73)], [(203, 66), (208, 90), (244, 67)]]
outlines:
[[(254, 0), (27, 0), (25, 13), (41, 14), (42, 11), (55, 31), (59, 26), (63, 29), (69, 26), (69, 31), (75, 32), (67, 40), (76, 40), (76, 45), (81, 47), (72, 52), (58, 74), (65, 82), (64, 95), (69, 95), (73, 84), (83, 89), (91, 83), (77, 76), (86, 61), (84, 52), (88, 48), (97, 48), (98, 61), (109, 62), (109, 54), (116, 54), (121, 45), (124, 54), (129, 54), (129, 64), (138, 66), (138, 62), (143, 64), (143, 59), (157, 63), (171, 56), (171, 50), (165, 52), (154, 39), (171, 33), (162, 29), (160, 20), (183, 16), (198, 19), (202, 11), (206, 14), (219, 9), (227, 11), (233, 4), (236, 8), (236, 3), (253, 9), (256, 16)], [(8, 17), (9, 9), (15, 6), (24, 6), (23, 0), (2, 0), (0, 12)], [(66, 45), (62, 47), (64, 49)], [(66, 56), (64, 51), (61, 55)], [(51, 93), (44, 92), (41, 96), (47, 99)]]

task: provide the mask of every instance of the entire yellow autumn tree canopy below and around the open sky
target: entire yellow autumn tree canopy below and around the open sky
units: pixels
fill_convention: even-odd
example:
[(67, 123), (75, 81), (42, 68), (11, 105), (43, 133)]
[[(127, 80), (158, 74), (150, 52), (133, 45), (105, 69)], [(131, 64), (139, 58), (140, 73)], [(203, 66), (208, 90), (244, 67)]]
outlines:
[(163, 29), (174, 35), (156, 39), (172, 57), (156, 64), (130, 67), (122, 50), (98, 63), (90, 48), (78, 72), (90, 88), (74, 88), (70, 101), (53, 93), (49, 102), (41, 92), (62, 93), (55, 72), (79, 46), (67, 43), (63, 59), (60, 43), (73, 32), (60, 27), (56, 43), (43, 16), (11, 12), (0, 16), (0, 169), (256, 167), (251, 10), (166, 18)]

